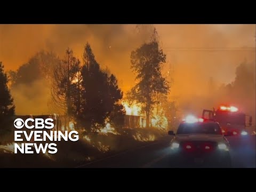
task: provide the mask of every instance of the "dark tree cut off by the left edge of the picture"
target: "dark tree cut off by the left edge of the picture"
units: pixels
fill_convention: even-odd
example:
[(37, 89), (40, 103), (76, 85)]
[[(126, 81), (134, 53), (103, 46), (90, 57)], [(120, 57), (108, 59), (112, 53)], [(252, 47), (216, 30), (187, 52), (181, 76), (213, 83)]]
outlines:
[(7, 86), (8, 81), (7, 73), (4, 72), (4, 66), (0, 62), (0, 129), (6, 129), (14, 115), (15, 107)]

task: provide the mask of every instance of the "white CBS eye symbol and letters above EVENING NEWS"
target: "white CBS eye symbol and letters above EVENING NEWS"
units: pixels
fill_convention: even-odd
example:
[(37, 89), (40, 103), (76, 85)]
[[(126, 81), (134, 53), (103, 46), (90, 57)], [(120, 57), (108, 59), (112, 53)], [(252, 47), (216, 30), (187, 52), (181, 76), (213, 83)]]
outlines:
[[(32, 125), (32, 123), (35, 122), (35, 125)], [(53, 119), (52, 118), (46, 118), (45, 120), (43, 118), (27, 118), (25, 122), (23, 121), (22, 118), (17, 118), (14, 120), (13, 125), (17, 129), (21, 129), (24, 125), (27, 127), (27, 129), (52, 129), (54, 127), (54, 124), (52, 123)], [(30, 124), (30, 125), (29, 125)]]

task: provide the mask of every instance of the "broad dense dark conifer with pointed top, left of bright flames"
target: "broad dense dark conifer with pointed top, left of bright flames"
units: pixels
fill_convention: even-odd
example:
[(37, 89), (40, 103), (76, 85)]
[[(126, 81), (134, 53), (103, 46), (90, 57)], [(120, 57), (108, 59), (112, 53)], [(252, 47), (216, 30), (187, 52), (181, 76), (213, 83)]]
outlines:
[[(95, 60), (89, 43), (85, 45), (82, 75), (82, 108), (78, 115), (87, 129), (95, 124), (105, 124), (105, 119), (124, 114), (118, 103), (123, 93), (117, 85), (116, 77), (103, 72)], [(114, 115), (115, 114), (115, 115)]]

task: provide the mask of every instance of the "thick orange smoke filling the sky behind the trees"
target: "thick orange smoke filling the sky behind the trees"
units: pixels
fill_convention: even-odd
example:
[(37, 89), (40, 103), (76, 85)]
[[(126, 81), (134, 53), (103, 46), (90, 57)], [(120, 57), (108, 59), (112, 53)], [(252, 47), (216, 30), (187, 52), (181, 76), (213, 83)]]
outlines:
[[(246, 50), (246, 47), (255, 46), (255, 25), (155, 27), (167, 54), (163, 74), (174, 79), (170, 98), (179, 101), (184, 114), (200, 114), (203, 108), (228, 102), (228, 98), (219, 96), (216, 99), (214, 95), (222, 84), (235, 81), (236, 68), (245, 59), (255, 71), (255, 50)], [(138, 35), (135, 25), (0, 25), (0, 60), (7, 70), (16, 70), (40, 50), (56, 52), (61, 58), (67, 47), (81, 59), (84, 45), (89, 42), (101, 67), (108, 67), (126, 92), (134, 84), (134, 74), (130, 69), (131, 51), (148, 38), (145, 31), (150, 26), (142, 28), (146, 29)], [(35, 87), (38, 86), (35, 82)], [(29, 113), (49, 113), (46, 110), (47, 94), (40, 93), (42, 98), (30, 102), (21, 99), (22, 90), (33, 87), (30, 85), (27, 89), (22, 87), (13, 91), (17, 114), (25, 114), (29, 109)], [(243, 106), (243, 103), (239, 101), (239, 105)], [(253, 102), (251, 106), (255, 110)]]

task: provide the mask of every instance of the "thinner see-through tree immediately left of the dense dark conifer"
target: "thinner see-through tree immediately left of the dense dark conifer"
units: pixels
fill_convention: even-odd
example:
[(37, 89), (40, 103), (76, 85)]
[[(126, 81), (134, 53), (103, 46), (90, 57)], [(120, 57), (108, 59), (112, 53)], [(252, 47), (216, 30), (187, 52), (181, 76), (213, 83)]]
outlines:
[(73, 56), (73, 51), (69, 48), (66, 50), (65, 59), (61, 60), (55, 66), (52, 79), (52, 99), (67, 115), (74, 114), (74, 103), (76, 82), (79, 73), (80, 61)]

